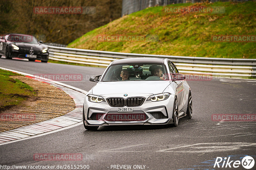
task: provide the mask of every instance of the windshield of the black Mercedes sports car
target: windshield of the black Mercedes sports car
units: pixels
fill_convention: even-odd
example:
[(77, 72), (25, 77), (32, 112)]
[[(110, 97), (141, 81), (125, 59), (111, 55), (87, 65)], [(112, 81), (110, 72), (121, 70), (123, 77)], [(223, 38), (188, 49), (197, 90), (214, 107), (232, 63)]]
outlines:
[(37, 39), (34, 36), (31, 36), (31, 35), (10, 34), (7, 37), (7, 40), (12, 41), (12, 42), (38, 44)]

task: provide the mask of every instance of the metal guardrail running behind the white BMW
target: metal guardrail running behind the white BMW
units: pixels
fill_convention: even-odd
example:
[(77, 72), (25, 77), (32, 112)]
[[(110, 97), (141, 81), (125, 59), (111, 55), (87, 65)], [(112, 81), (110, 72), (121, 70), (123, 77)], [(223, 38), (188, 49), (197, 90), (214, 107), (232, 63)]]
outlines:
[(119, 53), (98, 50), (85, 50), (57, 46), (49, 47), (49, 59), (79, 63), (91, 66), (107, 67), (116, 59), (132, 57), (156, 57), (172, 60), (180, 73), (228, 77), (256, 77), (256, 59), (230, 59), (185, 57), (173, 55), (153, 55), (137, 53)]

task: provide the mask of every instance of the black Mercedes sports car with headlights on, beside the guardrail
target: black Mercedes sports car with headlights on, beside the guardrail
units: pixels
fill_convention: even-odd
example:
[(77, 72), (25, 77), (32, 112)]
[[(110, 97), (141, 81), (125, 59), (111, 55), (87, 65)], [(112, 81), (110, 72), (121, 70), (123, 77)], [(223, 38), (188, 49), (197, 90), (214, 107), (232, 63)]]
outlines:
[(29, 61), (47, 62), (49, 59), (48, 48), (42, 43), (31, 35), (6, 34), (0, 37), (0, 57), (5, 55), (6, 59), (18, 57), (26, 58)]

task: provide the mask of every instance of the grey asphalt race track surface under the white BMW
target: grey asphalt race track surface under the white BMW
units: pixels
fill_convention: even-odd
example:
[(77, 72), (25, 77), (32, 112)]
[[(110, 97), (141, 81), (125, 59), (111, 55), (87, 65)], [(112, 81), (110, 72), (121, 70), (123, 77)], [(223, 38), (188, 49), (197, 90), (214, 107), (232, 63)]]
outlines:
[[(89, 77), (104, 71), (98, 67), (4, 58), (0, 59), (0, 67), (28, 74), (82, 74), (83, 81), (63, 83), (86, 91), (95, 85)], [(83, 125), (78, 125), (0, 145), (0, 165), (89, 165), (93, 170), (114, 169), (113, 165), (148, 170), (245, 169), (242, 165), (234, 168), (233, 162), (232, 168), (214, 168), (213, 165), (217, 157), (241, 161), (241, 157), (249, 155), (256, 160), (255, 117), (254, 121), (220, 122), (213, 121), (212, 114), (255, 115), (256, 81), (214, 78), (188, 83), (192, 90), (193, 117), (181, 118), (177, 127), (111, 126), (86, 131)], [(33, 155), (37, 153), (79, 153), (83, 160), (35, 161)]]

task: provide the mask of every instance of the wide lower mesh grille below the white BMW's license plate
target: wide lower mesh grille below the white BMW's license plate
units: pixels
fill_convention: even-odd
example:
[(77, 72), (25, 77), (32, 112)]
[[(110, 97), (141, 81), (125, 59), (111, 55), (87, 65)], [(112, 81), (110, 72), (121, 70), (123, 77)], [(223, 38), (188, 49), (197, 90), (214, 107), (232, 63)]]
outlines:
[(146, 120), (145, 113), (129, 113), (129, 114), (107, 114), (105, 119), (107, 121), (144, 121)]

